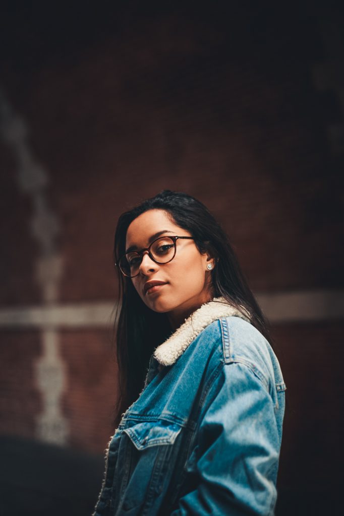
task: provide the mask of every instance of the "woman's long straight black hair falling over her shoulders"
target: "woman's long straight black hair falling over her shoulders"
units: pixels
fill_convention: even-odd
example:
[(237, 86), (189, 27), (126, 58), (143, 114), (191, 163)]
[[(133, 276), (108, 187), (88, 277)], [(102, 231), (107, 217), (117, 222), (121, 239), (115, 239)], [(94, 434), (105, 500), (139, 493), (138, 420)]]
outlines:
[[(248, 312), (252, 325), (271, 342), (267, 323), (240, 269), (226, 233), (206, 206), (194, 197), (182, 192), (163, 190), (123, 213), (119, 217), (115, 233), (115, 262), (118, 263), (126, 252), (126, 236), (130, 223), (150, 209), (163, 209), (169, 214), (171, 221), (191, 233), (200, 252), (209, 251), (216, 263), (211, 272), (214, 297), (222, 296), (242, 313)], [(121, 413), (126, 411), (143, 389), (153, 350), (171, 333), (167, 315), (149, 309), (137, 294), (131, 278), (124, 277), (119, 268), (117, 269), (119, 305), (116, 344), (119, 398), (116, 425), (119, 424)]]

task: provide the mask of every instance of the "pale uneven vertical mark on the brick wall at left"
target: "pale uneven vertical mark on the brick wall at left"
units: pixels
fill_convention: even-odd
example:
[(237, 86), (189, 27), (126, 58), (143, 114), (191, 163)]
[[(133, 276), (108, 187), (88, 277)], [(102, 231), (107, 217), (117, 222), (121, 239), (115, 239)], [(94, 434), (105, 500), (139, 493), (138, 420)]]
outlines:
[[(56, 246), (59, 223), (48, 205), (46, 186), (48, 172), (35, 160), (27, 141), (27, 126), (15, 114), (0, 90), (0, 132), (17, 160), (17, 185), (32, 199), (33, 217), (29, 229), (36, 239), (40, 255), (35, 277), (40, 285), (45, 306), (56, 302), (62, 272), (62, 260)], [(36, 381), (43, 400), (43, 412), (37, 420), (37, 437), (46, 442), (65, 444), (68, 422), (62, 414), (60, 401), (66, 380), (65, 364), (59, 356), (56, 329), (42, 331), (42, 355), (36, 365)]]

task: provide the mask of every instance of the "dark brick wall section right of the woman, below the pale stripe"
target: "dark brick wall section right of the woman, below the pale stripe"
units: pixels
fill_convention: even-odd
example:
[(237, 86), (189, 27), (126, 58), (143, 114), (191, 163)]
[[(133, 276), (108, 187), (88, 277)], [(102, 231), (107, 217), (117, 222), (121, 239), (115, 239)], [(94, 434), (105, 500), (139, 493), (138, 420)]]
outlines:
[(342, 322), (280, 325), (273, 329), (287, 385), (279, 483), (284, 489), (340, 489), (340, 371)]

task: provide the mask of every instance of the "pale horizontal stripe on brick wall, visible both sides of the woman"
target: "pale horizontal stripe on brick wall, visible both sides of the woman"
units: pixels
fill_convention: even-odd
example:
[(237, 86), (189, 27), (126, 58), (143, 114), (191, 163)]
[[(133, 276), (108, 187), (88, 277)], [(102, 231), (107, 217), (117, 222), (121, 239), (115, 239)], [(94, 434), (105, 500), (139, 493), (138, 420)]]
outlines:
[[(273, 323), (344, 317), (344, 291), (281, 292), (256, 298)], [(115, 311), (116, 303), (108, 301), (0, 308), (0, 328), (109, 328)]]

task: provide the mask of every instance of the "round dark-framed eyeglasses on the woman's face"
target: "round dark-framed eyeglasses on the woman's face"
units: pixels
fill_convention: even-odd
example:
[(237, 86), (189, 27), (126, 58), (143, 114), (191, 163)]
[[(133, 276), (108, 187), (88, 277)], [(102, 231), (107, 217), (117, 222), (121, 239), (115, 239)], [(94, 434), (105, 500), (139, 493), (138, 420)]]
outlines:
[(145, 251), (148, 251), (148, 256), (155, 263), (164, 264), (171, 262), (176, 256), (176, 241), (179, 238), (193, 240), (192, 236), (161, 236), (153, 240), (150, 246), (145, 249), (123, 254), (116, 265), (120, 268), (124, 276), (134, 278), (138, 276), (139, 267), (142, 263)]

